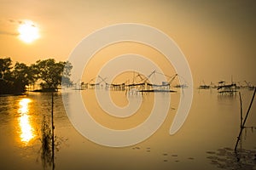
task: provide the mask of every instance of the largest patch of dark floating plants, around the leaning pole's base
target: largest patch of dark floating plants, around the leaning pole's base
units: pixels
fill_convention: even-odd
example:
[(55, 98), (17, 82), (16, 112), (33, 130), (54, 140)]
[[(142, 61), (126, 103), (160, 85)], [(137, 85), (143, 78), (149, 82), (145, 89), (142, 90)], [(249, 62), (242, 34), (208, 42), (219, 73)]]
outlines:
[(221, 169), (256, 169), (256, 150), (232, 150), (230, 148), (207, 151), (212, 165)]

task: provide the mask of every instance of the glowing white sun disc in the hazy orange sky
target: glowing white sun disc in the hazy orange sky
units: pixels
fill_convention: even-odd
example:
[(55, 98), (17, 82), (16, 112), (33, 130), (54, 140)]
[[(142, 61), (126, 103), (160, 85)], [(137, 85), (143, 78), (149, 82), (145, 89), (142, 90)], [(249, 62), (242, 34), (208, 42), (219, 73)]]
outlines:
[(34, 42), (40, 37), (38, 27), (31, 20), (23, 21), (18, 31), (20, 40), (26, 43)]

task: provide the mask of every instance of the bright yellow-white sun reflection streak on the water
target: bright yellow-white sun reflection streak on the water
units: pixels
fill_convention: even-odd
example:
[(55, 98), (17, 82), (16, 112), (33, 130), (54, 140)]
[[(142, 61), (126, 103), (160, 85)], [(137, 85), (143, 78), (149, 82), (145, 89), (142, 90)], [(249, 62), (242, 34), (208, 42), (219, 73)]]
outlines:
[(32, 127), (31, 116), (29, 116), (29, 103), (31, 99), (20, 99), (19, 102), (19, 126), (20, 126), (20, 140), (27, 144), (35, 137), (34, 129)]

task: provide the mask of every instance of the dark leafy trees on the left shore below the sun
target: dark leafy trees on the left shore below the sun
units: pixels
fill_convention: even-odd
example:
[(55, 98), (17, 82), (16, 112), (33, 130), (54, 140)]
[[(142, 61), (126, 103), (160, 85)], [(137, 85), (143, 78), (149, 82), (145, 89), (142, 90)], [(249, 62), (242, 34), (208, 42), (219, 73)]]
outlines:
[[(65, 69), (64, 69), (65, 68)], [(10, 58), (0, 59), (0, 94), (22, 94), (28, 86), (40, 82), (44, 91), (56, 91), (61, 86), (70, 86), (71, 63), (55, 59), (38, 60), (35, 64), (13, 62)]]

